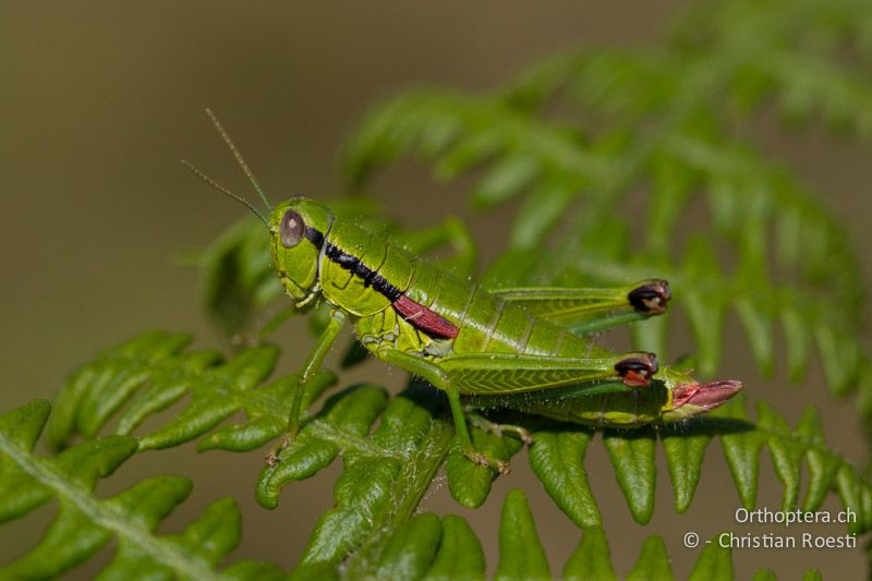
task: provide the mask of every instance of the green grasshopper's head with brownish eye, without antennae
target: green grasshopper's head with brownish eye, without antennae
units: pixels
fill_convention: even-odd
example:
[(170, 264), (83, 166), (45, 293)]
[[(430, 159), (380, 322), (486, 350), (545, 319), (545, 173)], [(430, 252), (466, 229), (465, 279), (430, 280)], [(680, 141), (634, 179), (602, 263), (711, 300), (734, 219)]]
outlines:
[(294, 197), (272, 209), (269, 217), (272, 266), (298, 303), (315, 292), (318, 262), (334, 214), (326, 205)]

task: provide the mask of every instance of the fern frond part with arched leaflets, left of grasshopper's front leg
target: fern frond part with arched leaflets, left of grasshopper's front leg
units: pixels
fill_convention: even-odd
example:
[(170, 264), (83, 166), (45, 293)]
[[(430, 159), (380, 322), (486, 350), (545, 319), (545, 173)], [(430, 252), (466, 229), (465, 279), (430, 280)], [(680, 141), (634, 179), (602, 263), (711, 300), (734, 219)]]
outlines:
[[(61, 411), (48, 426), (52, 445), (60, 447), (74, 435), (94, 437), (117, 414), (113, 432), (131, 434), (147, 417), (185, 396), (191, 399), (184, 410), (142, 436), (140, 450), (190, 441), (239, 411), (245, 412), (247, 421), (222, 427), (201, 444), (202, 449), (251, 450), (281, 434), (296, 376), (261, 386), (272, 372), (278, 349), (255, 347), (221, 362), (216, 351), (184, 351), (190, 340), (184, 334), (146, 332), (84, 365), (58, 395)], [(331, 373), (320, 372), (310, 384), (305, 401), (311, 402), (334, 383)]]

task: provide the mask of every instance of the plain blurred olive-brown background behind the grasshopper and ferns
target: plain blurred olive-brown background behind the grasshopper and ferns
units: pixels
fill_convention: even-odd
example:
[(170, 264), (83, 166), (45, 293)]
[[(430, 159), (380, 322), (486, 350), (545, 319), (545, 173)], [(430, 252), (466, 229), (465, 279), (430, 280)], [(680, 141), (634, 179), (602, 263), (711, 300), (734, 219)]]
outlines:
[[(421, 83), (492, 87), (537, 57), (578, 44), (644, 47), (662, 37), (683, 4), (0, 2), (0, 409), (50, 397), (96, 350), (145, 329), (193, 331), (199, 346), (226, 347), (201, 310), (195, 273), (173, 259), (244, 211), (194, 179), (181, 158), (249, 194), (204, 107), (218, 113), (274, 199), (290, 193), (320, 196), (341, 187), (337, 149), (379, 97)], [(814, 128), (789, 134), (775, 126), (774, 116), (763, 116), (749, 136), (831, 196), (859, 249), (872, 246), (870, 152), (833, 143)], [(472, 216), (463, 205), (463, 186), (462, 181), (436, 185), (423, 167), (405, 165), (373, 190), (413, 226), (446, 214), (470, 219), (484, 255), (493, 256), (510, 211)], [(741, 344), (735, 322), (731, 327), (734, 344)], [(804, 406), (820, 404), (834, 445), (858, 461), (863, 458), (850, 401), (833, 403), (823, 395), (819, 368), (807, 386), (791, 389), (766, 387), (780, 378), (761, 382), (747, 350), (734, 350), (726, 367), (724, 377), (777, 395), (780, 399), (771, 401), (792, 421)], [(397, 372), (385, 377), (378, 363), (367, 364), (358, 377), (401, 383)], [(588, 467), (619, 573), (627, 572), (644, 536), (658, 532), (676, 573), (685, 577), (697, 553), (681, 547), (681, 535), (693, 530), (705, 537), (734, 524), (739, 503), (718, 448), (708, 450), (697, 498), (682, 516), (673, 513), (661, 463), (658, 509), (642, 528), (616, 489), (602, 446), (591, 447)], [(111, 489), (137, 474), (195, 477), (192, 498), (169, 521), (170, 529), (218, 496), (234, 495), (247, 532), (238, 555), (286, 567), (295, 561), (315, 518), (330, 506), (329, 479), (336, 475), (334, 467), (290, 486), (281, 507), (267, 512), (253, 500), (257, 455), (196, 455), (189, 445), (129, 464)], [(424, 508), (467, 516), (485, 542), (493, 571), (501, 500), (509, 488), (523, 487), (556, 572), (580, 535), (538, 494), (525, 459), (519, 456), (513, 465), (512, 475), (498, 481), (477, 511), (460, 509), (445, 486)], [(763, 462), (761, 475), (760, 505), (775, 507), (780, 487), (771, 462)], [(0, 561), (31, 545), (52, 511), (44, 507), (26, 522), (0, 528)], [(763, 565), (784, 578), (812, 565), (843, 579), (864, 570), (860, 549), (737, 552), (734, 561), (740, 577)], [(92, 564), (74, 577), (94, 570)]]

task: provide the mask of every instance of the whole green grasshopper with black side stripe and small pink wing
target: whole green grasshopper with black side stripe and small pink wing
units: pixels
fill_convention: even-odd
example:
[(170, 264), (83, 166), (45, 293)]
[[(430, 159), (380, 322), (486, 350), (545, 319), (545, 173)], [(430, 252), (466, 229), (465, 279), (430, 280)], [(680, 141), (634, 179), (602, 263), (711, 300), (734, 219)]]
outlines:
[[(500, 472), (508, 469), (505, 462), (474, 448), (461, 398), (511, 398), (525, 402), (528, 411), (546, 416), (565, 416), (574, 409), (578, 417), (560, 417), (573, 421), (593, 417), (595, 413), (589, 408), (601, 406), (602, 411), (605, 398), (613, 417), (600, 413), (601, 423), (620, 424), (615, 406), (629, 397), (637, 402), (644, 400), (643, 407), (652, 410), (631, 414), (637, 423), (644, 423), (654, 421), (654, 416), (663, 419), (666, 414), (668, 420), (669, 414), (677, 414), (681, 398), (691, 399), (687, 386), (699, 386), (692, 379), (666, 375), (665, 380), (658, 380), (663, 387), (647, 395), (658, 372), (653, 353), (616, 355), (579, 334), (597, 328), (597, 320), (614, 324), (628, 316), (639, 319), (663, 313), (670, 298), (666, 281), (649, 280), (615, 289), (485, 290), (420, 261), (355, 223), (338, 220), (324, 203), (294, 197), (272, 208), (227, 132), (207, 112), (269, 209), (268, 217), (185, 165), (243, 203), (265, 223), (274, 268), (296, 307), (318, 301), (330, 306), (329, 322), (300, 374), (288, 434), (267, 457), (270, 464), (295, 436), (305, 385), (322, 367), (348, 320), (355, 326), (360, 342), (376, 358), (445, 391), (463, 453)], [(606, 397), (609, 391), (617, 394)], [(556, 412), (543, 395), (560, 392), (571, 394), (564, 397), (571, 406)], [(597, 397), (583, 397), (588, 392)], [(652, 408), (649, 399), (659, 401), (656, 394), (666, 394), (668, 402)], [(519, 429), (519, 434), (523, 437), (525, 433)]]

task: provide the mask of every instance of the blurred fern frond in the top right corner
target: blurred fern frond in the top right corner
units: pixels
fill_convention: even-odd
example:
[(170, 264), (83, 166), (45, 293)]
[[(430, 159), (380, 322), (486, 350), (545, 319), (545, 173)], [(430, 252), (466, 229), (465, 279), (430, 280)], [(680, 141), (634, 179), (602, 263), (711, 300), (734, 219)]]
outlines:
[[(735, 101), (754, 110), (775, 100), (790, 121), (820, 118), (868, 140), (872, 113), (867, 65), (872, 60), (872, 10), (857, 0), (833, 2), (706, 2), (679, 22), (683, 49), (738, 57)], [(845, 58), (850, 55), (851, 58)]]

